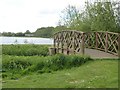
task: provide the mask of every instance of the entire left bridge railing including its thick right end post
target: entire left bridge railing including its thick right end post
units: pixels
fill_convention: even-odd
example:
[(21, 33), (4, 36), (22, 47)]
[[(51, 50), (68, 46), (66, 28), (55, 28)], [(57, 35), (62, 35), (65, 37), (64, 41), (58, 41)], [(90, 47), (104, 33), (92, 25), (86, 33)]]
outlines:
[(84, 53), (84, 32), (69, 30), (54, 34), (54, 48), (56, 53)]

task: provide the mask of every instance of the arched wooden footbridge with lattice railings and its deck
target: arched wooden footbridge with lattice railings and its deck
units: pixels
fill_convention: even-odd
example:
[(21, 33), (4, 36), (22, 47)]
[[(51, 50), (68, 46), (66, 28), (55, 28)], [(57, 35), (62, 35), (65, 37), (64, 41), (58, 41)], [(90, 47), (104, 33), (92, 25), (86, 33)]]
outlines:
[(85, 54), (92, 58), (120, 58), (120, 33), (61, 31), (54, 34), (50, 54)]

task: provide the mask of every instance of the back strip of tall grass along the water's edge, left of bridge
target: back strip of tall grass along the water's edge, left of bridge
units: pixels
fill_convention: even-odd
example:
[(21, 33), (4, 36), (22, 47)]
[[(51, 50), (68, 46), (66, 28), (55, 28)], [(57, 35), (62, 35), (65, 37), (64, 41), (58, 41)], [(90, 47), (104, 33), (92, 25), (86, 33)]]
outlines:
[(47, 56), (48, 45), (2, 45), (2, 54), (16, 56)]

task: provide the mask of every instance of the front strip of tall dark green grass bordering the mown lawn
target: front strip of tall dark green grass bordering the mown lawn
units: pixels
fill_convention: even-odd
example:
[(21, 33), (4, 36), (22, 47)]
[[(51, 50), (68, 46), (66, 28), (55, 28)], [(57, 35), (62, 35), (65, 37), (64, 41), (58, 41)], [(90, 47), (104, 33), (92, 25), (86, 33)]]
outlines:
[(91, 60), (87, 56), (55, 55), (55, 56), (9, 56), (3, 55), (3, 70), (7, 72), (21, 72), (22, 75), (30, 72), (52, 72), (62, 69), (78, 67)]

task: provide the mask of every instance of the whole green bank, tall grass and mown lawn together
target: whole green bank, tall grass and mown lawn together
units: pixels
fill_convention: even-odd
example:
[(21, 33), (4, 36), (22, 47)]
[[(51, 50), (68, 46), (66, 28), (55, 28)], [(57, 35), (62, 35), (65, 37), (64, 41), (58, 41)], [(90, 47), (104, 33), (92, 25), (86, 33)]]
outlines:
[(92, 60), (88, 56), (63, 54), (49, 56), (48, 47), (3, 45), (2, 87), (118, 87), (118, 60)]

